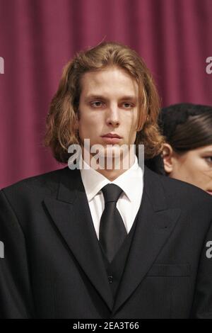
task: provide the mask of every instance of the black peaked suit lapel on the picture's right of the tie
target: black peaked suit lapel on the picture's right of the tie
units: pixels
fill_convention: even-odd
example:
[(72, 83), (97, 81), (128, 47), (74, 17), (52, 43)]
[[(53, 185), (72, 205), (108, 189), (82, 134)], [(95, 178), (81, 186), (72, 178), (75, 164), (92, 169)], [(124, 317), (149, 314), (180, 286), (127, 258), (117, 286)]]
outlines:
[(160, 177), (145, 167), (144, 186), (131, 249), (112, 315), (131, 296), (170, 237), (180, 209), (168, 209)]

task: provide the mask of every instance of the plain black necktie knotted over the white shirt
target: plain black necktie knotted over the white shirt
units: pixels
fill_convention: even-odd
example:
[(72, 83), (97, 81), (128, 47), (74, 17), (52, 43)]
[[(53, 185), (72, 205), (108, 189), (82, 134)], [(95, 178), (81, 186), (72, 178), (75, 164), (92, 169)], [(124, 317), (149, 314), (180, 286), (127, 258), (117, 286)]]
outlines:
[(105, 209), (100, 219), (100, 245), (111, 262), (126, 237), (126, 228), (117, 210), (117, 201), (122, 188), (115, 184), (107, 184), (102, 188), (105, 199)]

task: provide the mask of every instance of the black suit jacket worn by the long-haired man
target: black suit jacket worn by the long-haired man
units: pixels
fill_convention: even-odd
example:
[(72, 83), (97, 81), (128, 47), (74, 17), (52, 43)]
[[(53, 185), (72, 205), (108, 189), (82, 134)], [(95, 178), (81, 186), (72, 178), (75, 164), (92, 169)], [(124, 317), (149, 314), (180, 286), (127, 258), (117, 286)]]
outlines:
[(2, 189), (1, 317), (212, 317), (211, 199), (145, 168), (113, 304), (80, 171), (66, 167)]

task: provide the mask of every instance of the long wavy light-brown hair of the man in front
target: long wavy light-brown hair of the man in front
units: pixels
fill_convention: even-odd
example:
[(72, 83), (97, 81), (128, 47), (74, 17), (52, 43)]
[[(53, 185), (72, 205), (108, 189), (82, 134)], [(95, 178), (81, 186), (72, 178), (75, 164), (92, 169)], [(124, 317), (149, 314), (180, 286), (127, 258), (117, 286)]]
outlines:
[[(81, 144), (76, 127), (81, 77), (86, 72), (100, 71), (115, 66), (136, 79), (139, 87), (139, 117), (135, 145), (143, 144), (145, 158), (152, 158), (162, 150), (164, 138), (158, 128), (160, 100), (151, 72), (141, 57), (120, 43), (100, 43), (79, 52), (64, 67), (59, 88), (52, 98), (47, 115), (45, 146), (51, 147), (54, 158), (66, 163), (69, 145)], [(137, 150), (136, 150), (137, 154)]]

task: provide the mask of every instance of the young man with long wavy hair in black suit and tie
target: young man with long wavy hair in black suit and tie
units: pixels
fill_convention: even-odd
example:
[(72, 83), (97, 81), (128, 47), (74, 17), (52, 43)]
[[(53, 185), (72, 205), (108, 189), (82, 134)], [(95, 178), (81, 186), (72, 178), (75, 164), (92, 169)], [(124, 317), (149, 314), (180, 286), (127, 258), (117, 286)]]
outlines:
[[(129, 47), (102, 43), (67, 64), (45, 143), (63, 163), (79, 145), (83, 167), (1, 190), (2, 317), (212, 317), (211, 196), (139, 163), (139, 145), (146, 158), (161, 151), (158, 111)], [(124, 169), (119, 147), (134, 143)]]

